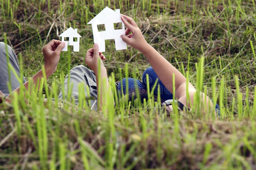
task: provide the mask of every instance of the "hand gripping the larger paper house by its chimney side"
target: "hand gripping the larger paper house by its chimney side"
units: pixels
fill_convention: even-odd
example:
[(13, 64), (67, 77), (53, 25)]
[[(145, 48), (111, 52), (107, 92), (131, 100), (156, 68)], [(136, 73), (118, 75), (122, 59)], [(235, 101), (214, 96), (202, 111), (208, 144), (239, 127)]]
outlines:
[(136, 48), (140, 51), (145, 49), (145, 47), (148, 45), (148, 43), (145, 40), (145, 38), (143, 37), (142, 32), (140, 31), (140, 28), (135, 23), (135, 21), (132, 18), (130, 18), (126, 15), (123, 15), (123, 14), (121, 14), (121, 19), (122, 19), (124, 25), (127, 26), (127, 28), (125, 30), (125, 35), (127, 35), (129, 32), (132, 32), (131, 34), (129, 34), (127, 36), (121, 35), (121, 38), (123, 39), (123, 41), (125, 43), (129, 44), (130, 46), (132, 46), (133, 48)]

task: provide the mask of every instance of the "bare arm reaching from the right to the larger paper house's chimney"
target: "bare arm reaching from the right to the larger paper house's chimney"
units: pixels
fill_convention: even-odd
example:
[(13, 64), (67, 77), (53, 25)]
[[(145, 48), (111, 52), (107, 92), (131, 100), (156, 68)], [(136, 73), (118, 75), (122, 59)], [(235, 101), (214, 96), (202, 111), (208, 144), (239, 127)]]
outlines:
[[(125, 30), (125, 34), (132, 32), (131, 34), (124, 36), (121, 35), (121, 38), (124, 42), (129, 44), (130, 46), (140, 50), (148, 61), (150, 62), (151, 66), (153, 67), (154, 71), (158, 75), (159, 79), (163, 82), (164, 86), (173, 93), (172, 89), (172, 75), (175, 75), (175, 97), (184, 105), (189, 106), (186, 96), (186, 78), (177, 70), (175, 67), (172, 66), (170, 62), (168, 62), (160, 53), (158, 53), (152, 46), (150, 46), (146, 40), (144, 39), (139, 27), (135, 23), (135, 21), (125, 15), (121, 14), (121, 19), (124, 22), (124, 25), (127, 26)], [(191, 99), (191, 103), (193, 104), (194, 94), (196, 92), (195, 87), (189, 82), (188, 83), (188, 93)], [(202, 93), (204, 96), (204, 93)], [(211, 104), (212, 102), (207, 96), (206, 105)], [(208, 106), (206, 106), (208, 107)]]

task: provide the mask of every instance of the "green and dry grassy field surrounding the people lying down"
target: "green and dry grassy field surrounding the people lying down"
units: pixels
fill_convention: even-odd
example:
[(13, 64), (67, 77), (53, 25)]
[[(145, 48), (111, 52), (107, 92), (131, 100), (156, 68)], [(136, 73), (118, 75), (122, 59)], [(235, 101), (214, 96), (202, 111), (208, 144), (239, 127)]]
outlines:
[[(131, 16), (147, 42), (220, 105), (220, 116), (178, 112), (175, 103), (167, 114), (150, 100), (109, 100), (100, 113), (44, 103), (57, 99), (72, 67), (85, 65), (93, 46), (87, 22), (106, 6)], [(0, 111), (0, 169), (256, 169), (254, 0), (0, 0), (0, 41), (13, 47), (27, 80), (44, 64), (42, 47), (69, 26), (82, 36), (80, 52), (62, 52), (38, 93), (16, 94)], [(130, 46), (116, 51), (114, 41), (104, 55), (112, 83), (140, 80), (150, 66)]]

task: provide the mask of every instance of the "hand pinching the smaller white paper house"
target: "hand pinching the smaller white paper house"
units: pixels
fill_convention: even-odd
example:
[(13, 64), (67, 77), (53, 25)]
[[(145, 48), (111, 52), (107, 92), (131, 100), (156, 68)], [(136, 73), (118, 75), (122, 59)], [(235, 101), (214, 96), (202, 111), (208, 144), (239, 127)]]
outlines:
[(52, 75), (60, 60), (60, 52), (65, 47), (65, 42), (53, 39), (43, 47), (44, 68), (47, 76)]

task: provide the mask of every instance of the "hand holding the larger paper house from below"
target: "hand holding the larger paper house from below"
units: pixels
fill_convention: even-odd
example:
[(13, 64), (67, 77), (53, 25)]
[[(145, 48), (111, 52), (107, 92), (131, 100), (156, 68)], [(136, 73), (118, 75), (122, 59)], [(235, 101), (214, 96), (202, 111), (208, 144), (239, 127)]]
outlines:
[(98, 73), (98, 60), (100, 60), (100, 67), (104, 70), (107, 71), (105, 68), (103, 61), (105, 60), (106, 57), (100, 52), (99, 53), (99, 46), (97, 43), (94, 44), (93, 48), (90, 48), (86, 52), (85, 56), (85, 62), (86, 64), (92, 69), (92, 71), (97, 74)]

